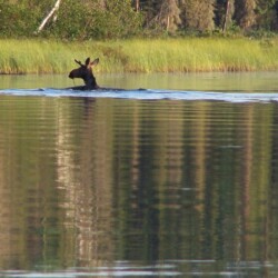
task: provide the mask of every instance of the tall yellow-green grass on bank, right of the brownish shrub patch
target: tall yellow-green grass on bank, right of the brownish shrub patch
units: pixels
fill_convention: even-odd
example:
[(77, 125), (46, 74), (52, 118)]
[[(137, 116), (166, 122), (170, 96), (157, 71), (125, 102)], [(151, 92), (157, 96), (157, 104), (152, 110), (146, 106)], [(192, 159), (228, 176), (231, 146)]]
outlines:
[(128, 41), (130, 71), (252, 71), (278, 69), (278, 41), (185, 39)]

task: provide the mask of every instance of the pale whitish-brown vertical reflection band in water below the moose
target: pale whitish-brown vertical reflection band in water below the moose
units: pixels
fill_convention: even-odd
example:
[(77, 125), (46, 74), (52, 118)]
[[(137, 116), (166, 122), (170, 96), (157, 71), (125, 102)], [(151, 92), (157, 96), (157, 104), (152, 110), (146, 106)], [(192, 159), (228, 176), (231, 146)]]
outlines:
[[(82, 101), (82, 100), (81, 100)], [(86, 103), (71, 132), (68, 107), (59, 111), (58, 180), (64, 191), (64, 225), (70, 245), (64, 256), (76, 254), (83, 266), (111, 260), (111, 142), (109, 115)], [(72, 143), (73, 142), (73, 143)], [(107, 257), (107, 255), (109, 256)]]

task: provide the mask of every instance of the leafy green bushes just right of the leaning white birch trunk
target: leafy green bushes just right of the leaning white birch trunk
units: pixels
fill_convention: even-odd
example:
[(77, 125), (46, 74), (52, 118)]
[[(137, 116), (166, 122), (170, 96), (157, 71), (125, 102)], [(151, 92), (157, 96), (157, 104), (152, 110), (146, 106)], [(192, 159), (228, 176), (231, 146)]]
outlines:
[(109, 1), (105, 8), (86, 6), (75, 0), (64, 0), (57, 21), (51, 23), (49, 36), (70, 40), (115, 39), (136, 34), (141, 24), (129, 0)]

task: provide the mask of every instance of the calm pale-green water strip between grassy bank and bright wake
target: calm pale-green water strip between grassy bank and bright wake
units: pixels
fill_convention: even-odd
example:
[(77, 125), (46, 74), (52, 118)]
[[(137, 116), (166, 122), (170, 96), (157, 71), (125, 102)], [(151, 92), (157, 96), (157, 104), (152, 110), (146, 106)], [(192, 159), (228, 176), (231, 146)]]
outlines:
[[(201, 73), (95, 73), (101, 87), (195, 91), (277, 91), (276, 71), (269, 72), (201, 72)], [(0, 89), (67, 88), (82, 85), (67, 75), (0, 76)]]

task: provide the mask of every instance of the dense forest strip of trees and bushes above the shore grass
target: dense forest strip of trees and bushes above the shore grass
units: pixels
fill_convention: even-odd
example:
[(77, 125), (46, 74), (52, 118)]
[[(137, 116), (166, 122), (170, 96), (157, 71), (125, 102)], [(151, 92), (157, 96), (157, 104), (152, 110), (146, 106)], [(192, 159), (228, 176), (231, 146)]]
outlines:
[(258, 36), (277, 30), (278, 0), (0, 0), (2, 38)]

